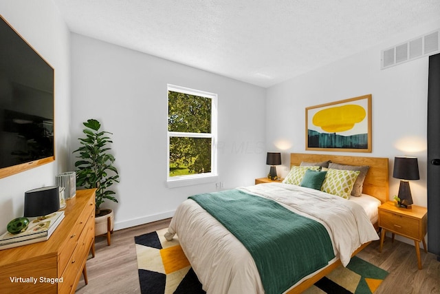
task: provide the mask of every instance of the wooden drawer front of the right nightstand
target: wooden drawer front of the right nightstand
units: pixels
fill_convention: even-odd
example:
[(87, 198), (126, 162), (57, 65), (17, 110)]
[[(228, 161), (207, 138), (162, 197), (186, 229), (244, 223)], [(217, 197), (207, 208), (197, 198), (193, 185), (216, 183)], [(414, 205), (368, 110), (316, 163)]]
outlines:
[(388, 230), (404, 235), (408, 238), (420, 240), (419, 220), (401, 216), (391, 211), (379, 211), (379, 226)]

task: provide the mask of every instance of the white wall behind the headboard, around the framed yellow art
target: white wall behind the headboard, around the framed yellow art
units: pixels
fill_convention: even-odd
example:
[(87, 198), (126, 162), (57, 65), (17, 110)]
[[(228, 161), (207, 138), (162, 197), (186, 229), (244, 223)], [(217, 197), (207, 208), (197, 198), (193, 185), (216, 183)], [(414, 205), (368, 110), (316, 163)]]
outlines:
[(428, 57), (380, 70), (380, 52), (438, 28), (440, 19), (270, 87), (266, 101), (266, 141), (267, 149), (283, 152), (285, 165), (278, 167), (278, 171), (287, 174), (290, 152), (306, 152), (305, 107), (372, 94), (373, 150), (350, 155), (390, 159), (390, 200), (399, 191), (399, 180), (393, 178), (394, 157), (417, 156), (420, 180), (411, 181), (410, 187), (415, 204), (426, 207)]

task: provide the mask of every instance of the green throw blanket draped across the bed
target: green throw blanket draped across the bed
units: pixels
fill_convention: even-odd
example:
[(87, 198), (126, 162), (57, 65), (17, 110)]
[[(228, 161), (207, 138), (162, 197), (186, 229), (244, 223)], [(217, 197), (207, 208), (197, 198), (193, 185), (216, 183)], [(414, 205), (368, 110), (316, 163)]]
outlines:
[(335, 257), (322, 224), (237, 189), (189, 197), (228, 229), (254, 258), (265, 293), (279, 294)]

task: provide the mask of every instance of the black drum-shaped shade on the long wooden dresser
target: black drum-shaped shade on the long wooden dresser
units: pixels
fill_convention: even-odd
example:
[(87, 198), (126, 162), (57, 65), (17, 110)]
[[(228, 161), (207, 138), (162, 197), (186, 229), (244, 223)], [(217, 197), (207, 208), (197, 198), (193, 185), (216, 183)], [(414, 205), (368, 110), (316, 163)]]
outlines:
[(58, 209), (60, 209), (58, 186), (42, 187), (25, 192), (25, 217), (46, 216)]

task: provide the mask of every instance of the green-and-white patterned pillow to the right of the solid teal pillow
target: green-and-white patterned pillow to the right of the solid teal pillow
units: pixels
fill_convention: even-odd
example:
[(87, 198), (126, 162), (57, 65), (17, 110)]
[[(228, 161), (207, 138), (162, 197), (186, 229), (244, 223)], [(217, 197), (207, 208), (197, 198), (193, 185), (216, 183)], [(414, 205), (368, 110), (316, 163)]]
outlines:
[(349, 199), (359, 174), (360, 171), (329, 169), (322, 182), (321, 191)]

